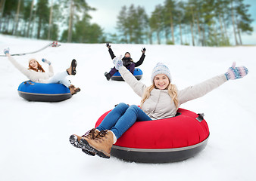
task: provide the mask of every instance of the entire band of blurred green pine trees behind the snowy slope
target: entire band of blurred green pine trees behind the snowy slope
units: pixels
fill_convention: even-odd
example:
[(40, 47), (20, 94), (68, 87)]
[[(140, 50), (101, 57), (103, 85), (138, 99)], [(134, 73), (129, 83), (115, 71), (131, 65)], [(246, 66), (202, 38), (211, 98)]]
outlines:
[(250, 5), (244, 0), (166, 0), (150, 14), (145, 8), (123, 6), (117, 33), (91, 23), (86, 0), (0, 0), (0, 33), (75, 43), (186, 44), (229, 46), (242, 44), (251, 34)]

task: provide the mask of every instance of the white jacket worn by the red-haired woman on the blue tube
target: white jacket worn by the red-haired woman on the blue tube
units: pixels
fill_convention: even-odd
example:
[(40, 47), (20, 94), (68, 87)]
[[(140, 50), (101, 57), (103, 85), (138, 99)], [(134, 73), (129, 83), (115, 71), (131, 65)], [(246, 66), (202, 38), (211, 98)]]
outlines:
[(39, 82), (39, 83), (48, 83), (48, 79), (54, 75), (52, 66), (48, 66), (48, 72), (36, 72), (32, 69), (27, 69), (24, 66), (21, 66), (20, 63), (17, 63), (13, 57), (8, 57), (8, 60), (18, 69), (23, 75), (26, 75), (30, 81)]

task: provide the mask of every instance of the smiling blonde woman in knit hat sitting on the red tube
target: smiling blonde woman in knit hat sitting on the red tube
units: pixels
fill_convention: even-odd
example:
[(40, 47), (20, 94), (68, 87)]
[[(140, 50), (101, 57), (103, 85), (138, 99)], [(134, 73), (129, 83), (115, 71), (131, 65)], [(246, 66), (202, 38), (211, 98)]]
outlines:
[(89, 130), (82, 137), (76, 134), (71, 135), (70, 143), (75, 147), (82, 148), (83, 152), (89, 155), (96, 154), (102, 158), (109, 158), (112, 145), (135, 121), (173, 117), (181, 104), (202, 97), (224, 82), (242, 78), (248, 73), (246, 67), (235, 67), (233, 64), (225, 74), (217, 75), (186, 89), (177, 90), (176, 86), (171, 84), (170, 71), (167, 66), (158, 63), (151, 74), (153, 84), (147, 87), (141, 81), (136, 80), (123, 66), (120, 58), (114, 59), (115, 67), (119, 69), (124, 81), (133, 88), (139, 97), (142, 97), (141, 106), (128, 106), (125, 103), (120, 103), (95, 129)]

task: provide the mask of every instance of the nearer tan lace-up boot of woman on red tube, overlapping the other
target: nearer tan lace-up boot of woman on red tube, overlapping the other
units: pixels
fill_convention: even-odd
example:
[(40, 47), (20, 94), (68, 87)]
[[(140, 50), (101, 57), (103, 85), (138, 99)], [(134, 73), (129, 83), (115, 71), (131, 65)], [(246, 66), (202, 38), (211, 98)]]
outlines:
[(113, 143), (114, 135), (110, 130), (101, 130), (95, 139), (80, 140), (83, 149), (86, 148), (90, 152), (95, 152), (96, 155), (102, 158), (110, 158)]

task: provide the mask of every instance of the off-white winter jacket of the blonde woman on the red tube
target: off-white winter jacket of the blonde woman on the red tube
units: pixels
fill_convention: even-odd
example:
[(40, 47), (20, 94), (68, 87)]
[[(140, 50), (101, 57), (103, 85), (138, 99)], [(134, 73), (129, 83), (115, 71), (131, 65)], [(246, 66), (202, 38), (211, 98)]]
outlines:
[[(124, 66), (119, 69), (119, 72), (123, 80), (133, 88), (139, 97), (142, 97), (146, 88), (145, 84), (138, 81)], [(204, 96), (211, 90), (214, 90), (214, 88), (219, 87), (225, 81), (227, 81), (226, 76), (223, 74), (203, 81), (200, 84), (178, 90), (179, 106), (189, 100)], [(171, 100), (168, 90), (160, 90), (157, 88), (151, 90), (150, 97), (143, 103), (142, 110), (152, 119), (170, 118), (176, 115), (176, 106)]]

